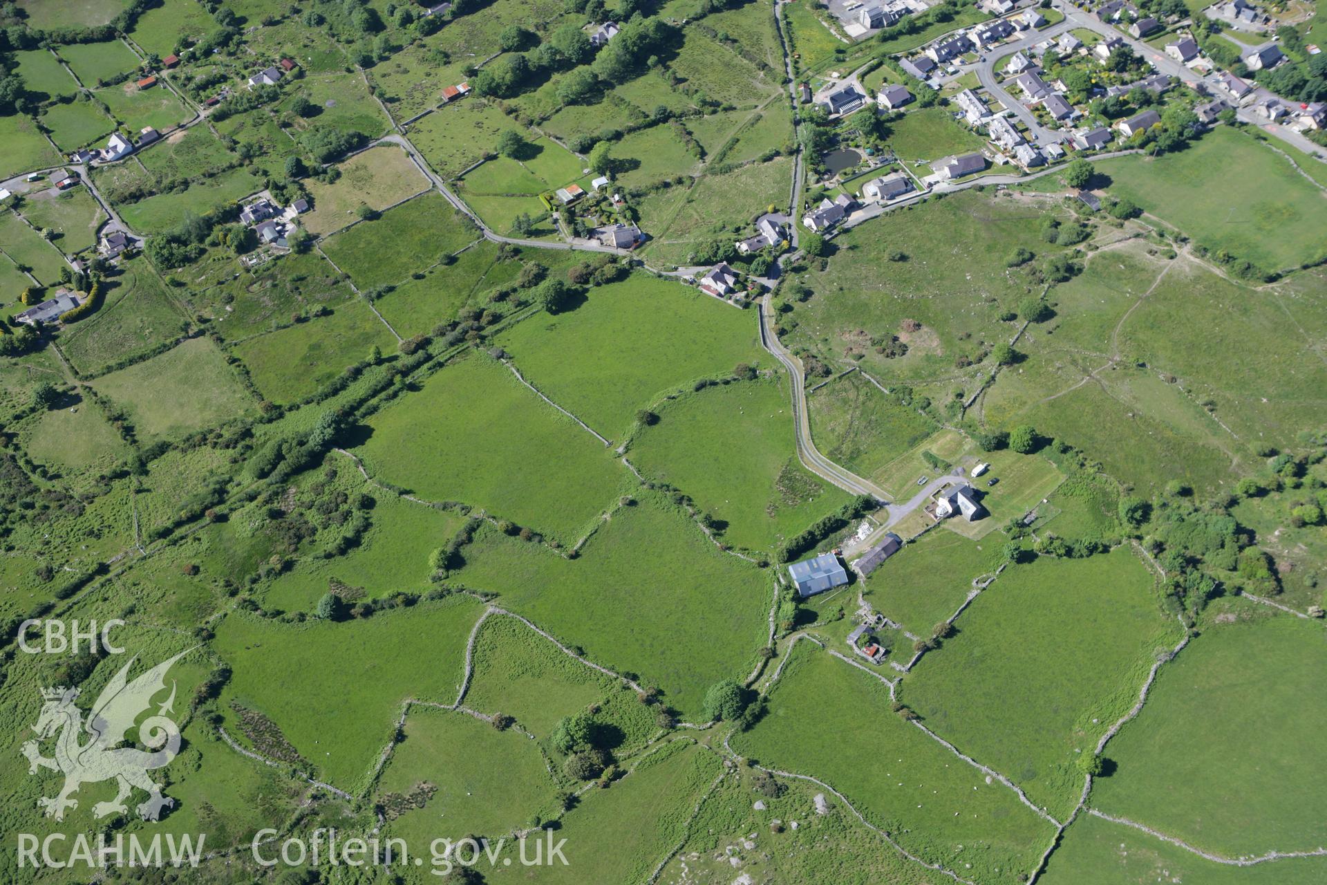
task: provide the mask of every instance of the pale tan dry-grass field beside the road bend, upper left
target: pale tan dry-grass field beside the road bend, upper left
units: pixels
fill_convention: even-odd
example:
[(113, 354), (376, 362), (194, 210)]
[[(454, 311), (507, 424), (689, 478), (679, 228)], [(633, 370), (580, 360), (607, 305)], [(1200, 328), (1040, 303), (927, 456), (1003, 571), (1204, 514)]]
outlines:
[(332, 184), (308, 182), (313, 211), (300, 223), (313, 234), (330, 234), (358, 219), (360, 206), (382, 210), (429, 190), (429, 179), (394, 145), (382, 145), (356, 154), (337, 166), (341, 178)]

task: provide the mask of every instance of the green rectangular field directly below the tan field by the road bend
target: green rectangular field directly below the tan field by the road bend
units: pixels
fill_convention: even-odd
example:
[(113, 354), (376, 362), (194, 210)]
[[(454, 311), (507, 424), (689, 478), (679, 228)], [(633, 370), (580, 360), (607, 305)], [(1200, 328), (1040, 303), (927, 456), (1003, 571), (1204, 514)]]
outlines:
[(476, 236), (474, 224), (442, 194), (426, 194), (324, 240), (322, 251), (356, 285), (369, 289), (401, 283)]

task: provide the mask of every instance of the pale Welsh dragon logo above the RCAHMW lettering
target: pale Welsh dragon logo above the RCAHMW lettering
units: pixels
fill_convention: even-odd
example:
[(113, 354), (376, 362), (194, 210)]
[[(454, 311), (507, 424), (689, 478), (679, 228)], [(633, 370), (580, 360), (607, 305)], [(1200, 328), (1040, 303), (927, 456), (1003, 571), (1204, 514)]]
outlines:
[[(134, 727), (139, 714), (151, 707), (153, 695), (166, 687), (166, 673), (171, 665), (191, 650), (180, 651), (174, 658), (158, 663), (133, 682), (129, 681), (129, 669), (138, 657), (130, 658), (129, 663), (121, 667), (102, 689), (88, 713), (86, 723), (82, 711), (74, 705), (78, 689), (61, 686), (41, 690), (45, 703), (41, 715), (37, 716), (37, 724), (32, 726), (37, 739), (23, 744), (23, 755), (28, 758), (29, 775), (37, 774), (37, 768), (50, 768), (65, 775), (65, 784), (54, 799), (42, 796), (37, 800), (37, 807), (45, 809), (46, 817), (64, 820), (66, 808), (78, 807), (78, 800), (72, 799), (78, 787), (102, 780), (115, 780), (119, 792), (114, 800), (93, 805), (94, 817), (126, 813), (129, 809), (125, 807), (125, 800), (133, 793), (134, 787), (147, 793), (147, 800), (137, 807), (138, 816), (143, 820), (159, 820), (163, 808), (175, 805), (175, 800), (163, 796), (161, 785), (147, 776), (153, 768), (170, 764), (179, 752), (179, 728), (166, 716), (167, 713), (174, 713), (174, 682), (170, 697), (158, 707), (157, 714), (147, 716), (138, 726), (138, 739), (149, 747), (149, 751), (117, 747), (117, 744), (126, 739), (126, 732)], [(42, 756), (41, 742), (57, 731), (60, 735), (56, 738), (54, 758)], [(90, 739), (80, 743), (82, 738)]]

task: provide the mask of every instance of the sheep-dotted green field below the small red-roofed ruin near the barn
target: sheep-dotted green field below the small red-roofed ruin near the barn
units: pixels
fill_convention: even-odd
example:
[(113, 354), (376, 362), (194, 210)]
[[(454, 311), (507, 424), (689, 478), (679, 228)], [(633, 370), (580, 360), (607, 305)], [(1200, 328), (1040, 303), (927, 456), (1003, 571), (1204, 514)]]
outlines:
[[(734, 735), (734, 750), (823, 779), (925, 861), (982, 882), (1023, 881), (1050, 844), (1048, 823), (890, 713), (884, 683), (807, 642), (792, 654), (770, 693), (770, 713)], [(869, 740), (827, 742), (825, 735)]]

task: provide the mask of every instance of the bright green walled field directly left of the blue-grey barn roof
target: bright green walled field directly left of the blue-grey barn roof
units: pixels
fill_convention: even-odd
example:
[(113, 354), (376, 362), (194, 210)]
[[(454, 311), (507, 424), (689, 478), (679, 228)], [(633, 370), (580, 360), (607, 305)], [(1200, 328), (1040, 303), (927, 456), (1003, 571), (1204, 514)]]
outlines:
[(768, 575), (656, 496), (618, 510), (575, 560), (490, 528), (462, 555), (459, 584), (495, 590), (592, 661), (641, 674), (691, 720), (703, 718), (705, 690), (750, 671), (766, 642)]

